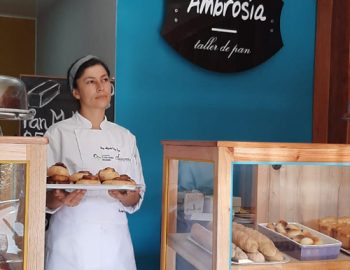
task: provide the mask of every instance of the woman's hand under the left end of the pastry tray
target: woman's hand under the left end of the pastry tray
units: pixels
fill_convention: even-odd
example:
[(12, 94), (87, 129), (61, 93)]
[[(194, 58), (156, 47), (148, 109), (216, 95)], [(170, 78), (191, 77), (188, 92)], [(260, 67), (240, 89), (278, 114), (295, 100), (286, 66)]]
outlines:
[(54, 189), (47, 193), (47, 207), (56, 209), (62, 205), (69, 207), (77, 206), (83, 199), (86, 190), (77, 189), (72, 192), (67, 192), (62, 189)]

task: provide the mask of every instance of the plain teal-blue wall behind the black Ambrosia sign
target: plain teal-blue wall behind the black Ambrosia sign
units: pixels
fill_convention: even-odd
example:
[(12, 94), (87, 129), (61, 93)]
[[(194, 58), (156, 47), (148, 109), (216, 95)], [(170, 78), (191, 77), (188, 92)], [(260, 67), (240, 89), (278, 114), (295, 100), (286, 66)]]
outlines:
[(138, 269), (159, 269), (163, 139), (310, 142), (316, 0), (285, 0), (284, 47), (248, 71), (220, 74), (160, 35), (165, 0), (119, 0), (117, 122), (138, 139), (147, 193), (129, 217)]

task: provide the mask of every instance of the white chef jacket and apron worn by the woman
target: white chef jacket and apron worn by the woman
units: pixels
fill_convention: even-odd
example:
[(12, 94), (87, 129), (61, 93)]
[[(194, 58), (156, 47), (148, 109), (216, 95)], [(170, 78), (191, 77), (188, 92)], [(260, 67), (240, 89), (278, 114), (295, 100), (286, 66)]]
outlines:
[[(145, 184), (136, 139), (127, 129), (107, 121), (100, 130), (79, 113), (52, 125), (48, 166), (63, 162), (70, 174), (113, 167), (137, 184)], [(107, 191), (87, 191), (76, 207), (61, 207), (50, 220), (47, 232), (46, 270), (135, 270), (134, 251), (125, 212), (126, 207)]]

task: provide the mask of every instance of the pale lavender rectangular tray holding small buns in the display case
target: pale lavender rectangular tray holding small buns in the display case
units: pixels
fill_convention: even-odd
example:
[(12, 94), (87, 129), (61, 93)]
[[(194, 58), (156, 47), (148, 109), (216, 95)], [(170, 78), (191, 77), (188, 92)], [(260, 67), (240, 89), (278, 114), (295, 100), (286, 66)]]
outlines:
[(288, 222), (288, 224), (295, 224), (303, 231), (309, 231), (313, 236), (320, 238), (323, 244), (301, 245), (289, 237), (267, 228), (267, 223), (258, 224), (258, 231), (269, 237), (280, 251), (301, 261), (326, 260), (338, 257), (341, 247), (340, 241), (300, 223)]

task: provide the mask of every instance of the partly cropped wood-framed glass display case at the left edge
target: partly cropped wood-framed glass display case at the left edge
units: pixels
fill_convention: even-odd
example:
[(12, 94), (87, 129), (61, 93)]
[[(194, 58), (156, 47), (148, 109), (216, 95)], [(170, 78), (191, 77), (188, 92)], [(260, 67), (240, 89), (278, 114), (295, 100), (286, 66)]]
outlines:
[(0, 269), (44, 269), (46, 138), (0, 137)]

